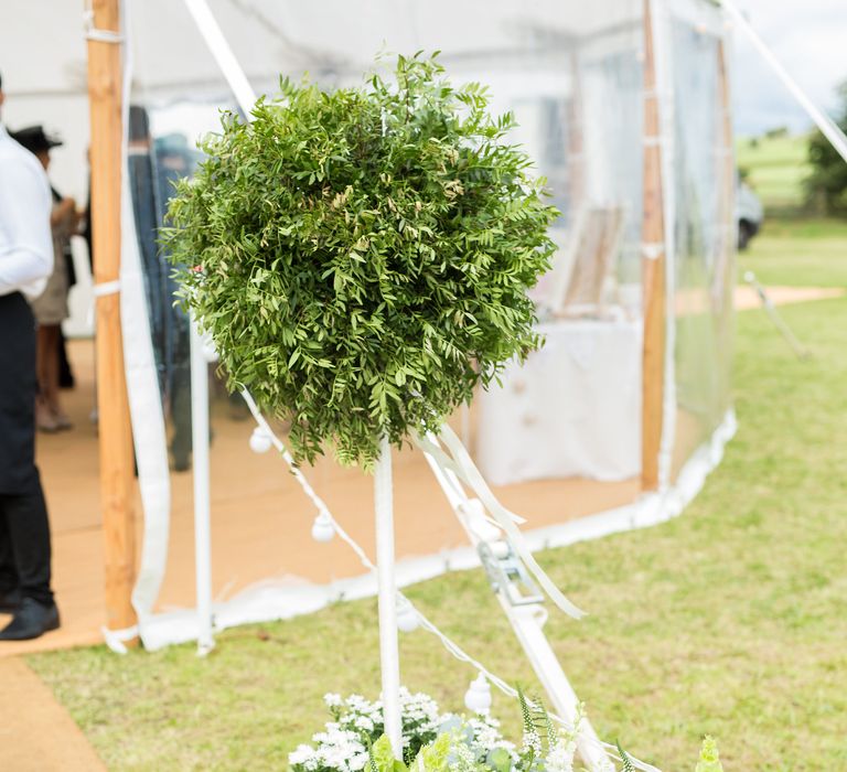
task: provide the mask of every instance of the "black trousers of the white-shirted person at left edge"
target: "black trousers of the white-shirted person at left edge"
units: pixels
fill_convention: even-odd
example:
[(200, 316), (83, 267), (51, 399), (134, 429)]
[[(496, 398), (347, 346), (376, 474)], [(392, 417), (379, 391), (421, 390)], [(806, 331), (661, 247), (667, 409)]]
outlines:
[(35, 320), (18, 292), (0, 296), (0, 590), (50, 603), (47, 508), (35, 468)]

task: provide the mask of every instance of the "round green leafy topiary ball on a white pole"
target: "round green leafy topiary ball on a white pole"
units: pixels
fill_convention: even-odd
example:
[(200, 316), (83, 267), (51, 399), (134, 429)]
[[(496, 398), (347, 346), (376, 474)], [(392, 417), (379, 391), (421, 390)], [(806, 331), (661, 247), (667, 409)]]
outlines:
[(298, 460), (332, 444), (371, 469), (382, 436), (437, 430), (540, 344), (526, 290), (558, 213), (486, 107), (420, 55), (395, 83), (283, 81), (250, 124), (226, 114), (179, 184), (164, 240), (183, 297), (229, 387), (291, 420)]

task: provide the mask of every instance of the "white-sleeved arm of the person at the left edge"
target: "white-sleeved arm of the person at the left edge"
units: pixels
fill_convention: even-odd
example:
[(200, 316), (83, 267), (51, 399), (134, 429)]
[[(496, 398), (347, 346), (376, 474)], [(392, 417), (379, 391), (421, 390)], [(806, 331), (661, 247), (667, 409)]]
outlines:
[(0, 294), (46, 279), (53, 270), (50, 197), (34, 169), (8, 163), (0, 170), (0, 227), (8, 239), (0, 254)]

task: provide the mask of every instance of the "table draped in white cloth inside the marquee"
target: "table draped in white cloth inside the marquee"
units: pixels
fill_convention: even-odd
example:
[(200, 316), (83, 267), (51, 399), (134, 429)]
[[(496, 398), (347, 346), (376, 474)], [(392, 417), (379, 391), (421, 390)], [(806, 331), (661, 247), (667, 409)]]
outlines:
[(476, 460), (494, 485), (641, 471), (642, 323), (539, 324), (543, 349), (479, 396)]

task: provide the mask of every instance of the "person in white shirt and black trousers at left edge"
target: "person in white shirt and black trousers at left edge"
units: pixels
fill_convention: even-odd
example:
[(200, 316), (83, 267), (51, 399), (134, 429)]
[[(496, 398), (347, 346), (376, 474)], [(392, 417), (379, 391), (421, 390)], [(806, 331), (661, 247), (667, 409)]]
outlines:
[[(0, 107), (3, 103), (0, 79)], [(58, 626), (47, 510), (35, 467), (35, 320), (25, 298), (53, 270), (50, 183), (0, 124), (0, 641)]]

